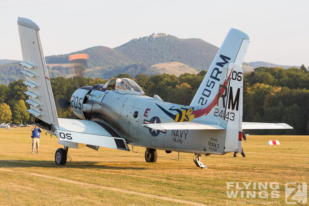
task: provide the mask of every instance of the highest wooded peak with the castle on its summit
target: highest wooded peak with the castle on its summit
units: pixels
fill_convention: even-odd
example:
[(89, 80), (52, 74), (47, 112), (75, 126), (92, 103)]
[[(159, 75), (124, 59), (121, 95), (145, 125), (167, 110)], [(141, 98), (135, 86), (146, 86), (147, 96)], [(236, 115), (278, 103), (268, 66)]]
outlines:
[(201, 39), (179, 39), (176, 36), (133, 39), (115, 48), (134, 62), (151, 65), (177, 61), (198, 70), (208, 69), (219, 48)]

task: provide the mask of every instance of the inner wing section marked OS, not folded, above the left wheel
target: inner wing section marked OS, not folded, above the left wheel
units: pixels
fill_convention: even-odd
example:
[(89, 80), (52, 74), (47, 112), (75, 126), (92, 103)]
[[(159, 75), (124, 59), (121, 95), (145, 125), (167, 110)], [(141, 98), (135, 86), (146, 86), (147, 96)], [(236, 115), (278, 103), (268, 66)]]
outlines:
[(58, 121), (60, 127), (53, 127), (55, 128), (55, 133), (60, 140), (59, 143), (65, 143), (62, 145), (68, 145), (68, 142), (75, 142), (85, 145), (95, 145), (130, 151), (125, 139), (119, 137), (115, 132), (102, 123), (98, 124), (90, 120), (62, 118), (59, 118)]

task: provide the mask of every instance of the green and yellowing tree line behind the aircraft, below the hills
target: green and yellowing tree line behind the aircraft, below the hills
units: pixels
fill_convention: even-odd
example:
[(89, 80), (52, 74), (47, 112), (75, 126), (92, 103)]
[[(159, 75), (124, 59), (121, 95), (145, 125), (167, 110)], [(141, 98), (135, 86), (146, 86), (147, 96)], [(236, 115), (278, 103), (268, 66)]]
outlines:
[[(308, 68), (309, 69), (309, 68)], [(309, 132), (309, 72), (302, 65), (300, 69), (292, 67), (258, 67), (243, 75), (243, 121), (286, 123), (294, 127), (287, 130), (257, 130), (254, 134), (308, 135)], [(138, 83), (146, 95), (159, 95), (163, 101), (189, 105), (206, 71), (199, 74), (131, 74), (121, 73), (115, 77), (131, 78)], [(105, 84), (102, 78), (50, 78), (53, 96), (59, 118), (77, 118), (70, 109), (70, 98), (75, 90), (82, 86)], [(28, 96), (23, 94), (27, 87), (23, 80), (13, 81), (8, 86), (0, 85), (0, 121), (21, 120), (31, 123), (32, 117), (23, 115), (29, 109), (24, 103)], [(20, 101), (22, 100), (22, 101)], [(4, 109), (5, 108), (5, 109)], [(9, 115), (11, 111), (11, 116)], [(4, 112), (6, 111), (6, 113)], [(27, 113), (27, 112), (26, 112)], [(8, 119), (3, 119), (4, 117)]]

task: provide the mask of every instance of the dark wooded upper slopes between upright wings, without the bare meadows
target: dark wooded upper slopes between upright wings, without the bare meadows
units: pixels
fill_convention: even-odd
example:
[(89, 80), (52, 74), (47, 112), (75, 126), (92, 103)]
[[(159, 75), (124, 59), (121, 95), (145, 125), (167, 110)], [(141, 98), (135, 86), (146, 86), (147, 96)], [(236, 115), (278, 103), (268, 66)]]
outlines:
[(46, 57), (46, 63), (68, 63), (69, 55), (87, 53), (89, 55), (88, 66), (96, 68), (113, 69), (141, 62), (154, 65), (166, 61), (177, 61), (203, 70), (209, 68), (218, 49), (201, 39), (179, 39), (171, 35), (159, 38), (145, 36), (113, 49), (97, 46), (70, 54), (49, 56)]

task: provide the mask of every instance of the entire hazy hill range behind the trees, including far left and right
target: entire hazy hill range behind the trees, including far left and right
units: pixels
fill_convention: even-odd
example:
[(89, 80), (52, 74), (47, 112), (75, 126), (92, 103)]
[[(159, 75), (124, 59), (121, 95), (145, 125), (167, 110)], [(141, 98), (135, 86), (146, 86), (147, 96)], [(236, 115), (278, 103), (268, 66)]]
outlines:
[[(108, 79), (120, 73), (135, 77), (141, 73), (153, 75), (164, 72), (178, 76), (184, 72), (198, 73), (207, 70), (218, 49), (201, 39), (180, 39), (160, 34), (133, 39), (116, 48), (96, 46), (70, 54), (47, 56), (45, 59), (51, 78), (84, 76)], [(88, 54), (89, 59), (79, 63), (68, 61), (70, 55), (79, 53)], [(24, 68), (18, 62), (20, 61), (0, 60), (0, 84), (24, 78), (19, 74)], [(244, 62), (243, 70), (246, 73), (260, 66), (291, 67), (257, 61)]]

